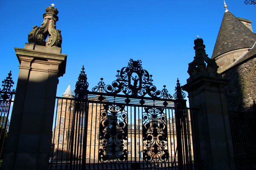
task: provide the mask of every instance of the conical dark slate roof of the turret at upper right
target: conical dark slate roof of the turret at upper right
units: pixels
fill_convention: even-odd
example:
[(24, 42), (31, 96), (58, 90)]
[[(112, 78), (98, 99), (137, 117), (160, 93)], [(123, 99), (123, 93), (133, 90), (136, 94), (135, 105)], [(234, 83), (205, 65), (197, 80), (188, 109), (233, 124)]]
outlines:
[(255, 41), (256, 35), (244, 26), (226, 7), (212, 59), (229, 51), (251, 47)]

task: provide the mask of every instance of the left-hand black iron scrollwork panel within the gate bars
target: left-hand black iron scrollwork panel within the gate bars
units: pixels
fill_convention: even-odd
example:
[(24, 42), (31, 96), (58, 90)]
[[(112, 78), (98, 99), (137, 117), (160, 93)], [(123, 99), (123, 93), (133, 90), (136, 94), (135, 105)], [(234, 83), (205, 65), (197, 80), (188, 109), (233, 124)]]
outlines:
[(127, 160), (127, 112), (122, 105), (104, 105), (100, 113), (99, 125), (99, 160), (102, 163)]

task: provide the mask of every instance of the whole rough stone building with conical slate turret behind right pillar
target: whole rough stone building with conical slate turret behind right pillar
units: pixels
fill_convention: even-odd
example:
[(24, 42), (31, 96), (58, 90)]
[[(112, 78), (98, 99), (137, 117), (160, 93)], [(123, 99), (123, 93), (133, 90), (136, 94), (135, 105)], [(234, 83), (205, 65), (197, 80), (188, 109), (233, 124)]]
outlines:
[(235, 17), (224, 3), (224, 16), (212, 59), (218, 73), (230, 83), (225, 87), (229, 111), (250, 111), (256, 99), (256, 34), (251, 21)]

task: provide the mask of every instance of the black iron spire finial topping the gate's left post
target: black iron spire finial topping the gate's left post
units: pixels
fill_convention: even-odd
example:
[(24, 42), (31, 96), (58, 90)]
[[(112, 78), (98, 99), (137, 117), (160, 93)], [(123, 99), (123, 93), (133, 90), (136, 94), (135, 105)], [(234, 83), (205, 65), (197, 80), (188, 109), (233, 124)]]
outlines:
[(89, 83), (87, 82), (87, 75), (85, 74), (84, 65), (83, 65), (82, 71), (78, 77), (78, 81), (76, 82), (76, 89), (75, 89), (76, 97), (83, 98), (85, 95), (84, 93), (87, 91), (88, 86), (89, 86)]

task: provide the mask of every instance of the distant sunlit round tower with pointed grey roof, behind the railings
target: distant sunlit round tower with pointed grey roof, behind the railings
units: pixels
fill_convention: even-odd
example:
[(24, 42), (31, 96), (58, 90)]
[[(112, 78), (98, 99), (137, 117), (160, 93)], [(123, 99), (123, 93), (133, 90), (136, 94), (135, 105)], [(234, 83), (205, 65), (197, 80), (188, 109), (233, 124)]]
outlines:
[[(58, 115), (52, 134), (52, 160), (66, 160), (67, 148), (70, 142), (71, 127), (74, 114), (75, 96), (70, 84), (62, 94), (64, 99), (58, 99)], [(66, 99), (65, 99), (66, 98)], [(68, 99), (70, 98), (70, 99)]]

